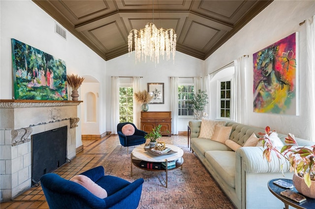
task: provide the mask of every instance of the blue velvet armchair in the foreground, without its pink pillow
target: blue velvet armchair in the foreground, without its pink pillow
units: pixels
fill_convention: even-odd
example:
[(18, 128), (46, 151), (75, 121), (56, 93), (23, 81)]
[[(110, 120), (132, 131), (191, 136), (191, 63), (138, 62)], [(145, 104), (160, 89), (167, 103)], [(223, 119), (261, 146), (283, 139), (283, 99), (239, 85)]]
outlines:
[(78, 183), (65, 180), (54, 173), (40, 178), (50, 209), (136, 209), (139, 205), (143, 179), (133, 183), (118, 177), (104, 176), (104, 168), (98, 166), (81, 173), (107, 191), (104, 199), (93, 195)]

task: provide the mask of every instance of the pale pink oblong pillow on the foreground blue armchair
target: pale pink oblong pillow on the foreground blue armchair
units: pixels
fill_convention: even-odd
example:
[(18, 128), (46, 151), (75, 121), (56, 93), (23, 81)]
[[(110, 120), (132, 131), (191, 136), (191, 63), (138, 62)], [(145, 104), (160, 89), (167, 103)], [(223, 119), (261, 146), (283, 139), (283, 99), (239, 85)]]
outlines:
[(107, 197), (106, 190), (100, 187), (99, 185), (97, 185), (87, 176), (77, 175), (77, 176), (72, 177), (70, 181), (79, 183), (80, 185), (85, 187), (87, 190), (89, 190), (92, 194), (94, 194), (98, 198), (104, 199)]

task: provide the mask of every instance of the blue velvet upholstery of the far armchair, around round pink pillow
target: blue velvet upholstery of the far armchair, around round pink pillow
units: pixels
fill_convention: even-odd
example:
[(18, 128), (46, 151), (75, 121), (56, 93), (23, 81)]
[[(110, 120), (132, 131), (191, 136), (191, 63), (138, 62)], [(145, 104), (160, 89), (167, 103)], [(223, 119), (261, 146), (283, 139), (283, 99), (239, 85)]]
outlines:
[[(131, 136), (126, 136), (122, 132), (123, 126), (126, 124), (131, 124), (134, 127), (134, 134)], [(144, 136), (147, 134), (145, 131), (138, 130), (136, 126), (133, 123), (125, 122), (125, 123), (119, 123), (117, 125), (117, 132), (120, 140), (120, 144), (124, 147), (130, 147), (134, 145), (144, 144), (146, 142), (146, 139)]]

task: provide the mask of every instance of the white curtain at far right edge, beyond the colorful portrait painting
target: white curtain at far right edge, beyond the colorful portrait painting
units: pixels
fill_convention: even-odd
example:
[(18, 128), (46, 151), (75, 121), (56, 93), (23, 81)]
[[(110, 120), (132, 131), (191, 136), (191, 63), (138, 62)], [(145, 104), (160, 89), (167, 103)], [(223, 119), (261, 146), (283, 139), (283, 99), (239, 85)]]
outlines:
[(315, 16), (306, 20), (306, 86), (309, 115), (309, 137), (315, 141)]

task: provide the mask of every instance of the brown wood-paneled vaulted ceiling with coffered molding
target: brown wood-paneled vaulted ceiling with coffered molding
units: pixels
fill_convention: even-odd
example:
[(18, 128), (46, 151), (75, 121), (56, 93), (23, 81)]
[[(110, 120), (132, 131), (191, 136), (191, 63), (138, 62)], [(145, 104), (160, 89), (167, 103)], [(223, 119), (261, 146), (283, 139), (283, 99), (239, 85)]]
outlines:
[(33, 0), (104, 60), (147, 23), (173, 28), (176, 50), (205, 60), (272, 0)]

